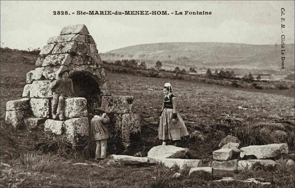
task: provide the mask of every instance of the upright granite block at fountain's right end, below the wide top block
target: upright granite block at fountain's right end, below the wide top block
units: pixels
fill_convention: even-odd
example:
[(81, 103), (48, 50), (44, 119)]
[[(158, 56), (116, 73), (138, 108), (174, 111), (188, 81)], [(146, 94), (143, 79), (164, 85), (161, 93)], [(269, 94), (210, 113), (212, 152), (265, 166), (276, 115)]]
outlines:
[(121, 129), (123, 142), (130, 142), (131, 138), (140, 137), (141, 118), (138, 114), (123, 114)]

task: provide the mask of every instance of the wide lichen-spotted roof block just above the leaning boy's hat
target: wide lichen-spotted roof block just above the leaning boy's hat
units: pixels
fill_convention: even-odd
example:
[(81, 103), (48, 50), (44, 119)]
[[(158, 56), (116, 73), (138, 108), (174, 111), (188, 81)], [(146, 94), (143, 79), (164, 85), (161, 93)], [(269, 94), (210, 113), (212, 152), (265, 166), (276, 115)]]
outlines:
[(53, 54), (45, 57), (42, 66), (57, 66), (65, 65), (69, 66), (72, 61), (72, 56), (70, 54)]

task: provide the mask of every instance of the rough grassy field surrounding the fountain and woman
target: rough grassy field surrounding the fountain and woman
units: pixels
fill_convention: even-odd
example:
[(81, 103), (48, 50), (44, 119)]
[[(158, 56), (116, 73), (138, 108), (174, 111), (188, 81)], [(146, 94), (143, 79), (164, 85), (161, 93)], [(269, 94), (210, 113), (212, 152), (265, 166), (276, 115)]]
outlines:
[[(0, 187), (262, 187), (240, 182), (211, 182), (206, 174), (171, 179), (179, 170), (161, 166), (128, 166), (112, 163), (109, 159), (91, 165), (83, 152), (67, 157), (52, 152), (35, 151), (35, 145), (44, 137), (41, 131), (13, 130), (4, 126), (6, 102), (19, 99), (26, 84), (26, 73), (34, 65), (1, 61), (1, 180)], [(209, 164), (212, 152), (228, 134), (238, 136), (241, 147), (249, 144), (288, 143), (289, 155), (283, 160), (294, 160), (294, 95), (293, 91), (258, 90), (200, 84), (193, 81), (168, 80), (108, 73), (113, 95), (132, 95), (136, 113), (144, 119), (141, 125), (142, 142), (127, 154), (148, 150), (161, 142), (157, 139), (158, 113), (162, 106), (162, 88), (170, 82), (178, 97), (179, 113), (191, 137), (182, 140), (180, 147), (189, 148), (192, 158)], [(247, 110), (238, 109), (238, 106)], [(241, 121), (235, 121), (239, 118)], [(281, 122), (286, 136), (273, 134), (275, 127), (259, 125)], [(263, 129), (264, 128), (264, 129)], [(266, 129), (273, 131), (267, 132)], [(194, 134), (192, 134), (194, 132)], [(247, 133), (247, 134), (246, 134)], [(72, 163), (85, 162), (87, 166)], [(284, 163), (284, 162), (282, 162)], [(263, 187), (294, 187), (294, 169), (280, 167), (272, 171), (242, 172), (239, 179), (261, 177), (271, 185)], [(221, 177), (214, 177), (220, 179)]]

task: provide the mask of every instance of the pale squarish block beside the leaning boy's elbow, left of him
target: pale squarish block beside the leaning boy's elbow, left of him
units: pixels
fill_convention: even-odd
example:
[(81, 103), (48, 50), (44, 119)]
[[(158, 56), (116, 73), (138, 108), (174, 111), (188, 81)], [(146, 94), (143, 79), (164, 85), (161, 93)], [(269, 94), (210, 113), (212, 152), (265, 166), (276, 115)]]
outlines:
[(31, 84), (30, 98), (50, 98), (52, 91), (50, 86), (53, 83), (51, 80), (33, 81)]

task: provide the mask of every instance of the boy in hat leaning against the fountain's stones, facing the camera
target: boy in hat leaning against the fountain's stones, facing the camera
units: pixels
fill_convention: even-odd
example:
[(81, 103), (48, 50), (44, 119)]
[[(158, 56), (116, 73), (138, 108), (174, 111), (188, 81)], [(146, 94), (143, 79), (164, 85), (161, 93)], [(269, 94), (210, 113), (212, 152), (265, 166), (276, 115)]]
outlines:
[(70, 70), (67, 68), (61, 69), (58, 74), (59, 78), (56, 79), (51, 85), (51, 91), (53, 92), (52, 101), (52, 119), (56, 119), (56, 111), (59, 107), (59, 119), (64, 120), (65, 112), (65, 99), (72, 98), (74, 96), (73, 81), (68, 78)]

